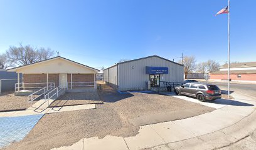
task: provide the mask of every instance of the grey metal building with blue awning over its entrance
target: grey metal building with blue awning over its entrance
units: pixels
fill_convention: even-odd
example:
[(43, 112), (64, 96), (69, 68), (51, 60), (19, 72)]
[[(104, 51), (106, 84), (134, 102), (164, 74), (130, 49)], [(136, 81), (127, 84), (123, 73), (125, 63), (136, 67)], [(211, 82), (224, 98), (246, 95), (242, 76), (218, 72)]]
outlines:
[(120, 91), (164, 87), (165, 82), (184, 81), (184, 66), (156, 55), (148, 56), (104, 69), (104, 81)]

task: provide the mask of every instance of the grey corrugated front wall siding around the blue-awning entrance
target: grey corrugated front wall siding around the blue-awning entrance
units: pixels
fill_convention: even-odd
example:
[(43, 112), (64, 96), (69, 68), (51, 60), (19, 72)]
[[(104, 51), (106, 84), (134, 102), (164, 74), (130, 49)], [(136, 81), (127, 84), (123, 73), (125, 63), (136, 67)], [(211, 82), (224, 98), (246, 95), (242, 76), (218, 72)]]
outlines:
[[(134, 69), (132, 69), (132, 66), (134, 66)], [(146, 89), (146, 81), (149, 81), (146, 66), (169, 68), (169, 74), (161, 74), (160, 81), (181, 83), (184, 80), (183, 66), (153, 57), (119, 64), (119, 90)]]

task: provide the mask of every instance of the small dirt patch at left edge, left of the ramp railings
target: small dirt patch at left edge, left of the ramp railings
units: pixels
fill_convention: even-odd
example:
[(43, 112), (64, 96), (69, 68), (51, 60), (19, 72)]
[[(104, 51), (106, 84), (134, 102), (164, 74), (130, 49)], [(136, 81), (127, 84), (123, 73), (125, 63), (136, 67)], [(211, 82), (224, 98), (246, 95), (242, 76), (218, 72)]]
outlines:
[(28, 103), (27, 96), (14, 96), (12, 92), (0, 94), (0, 111), (26, 109), (34, 103)]

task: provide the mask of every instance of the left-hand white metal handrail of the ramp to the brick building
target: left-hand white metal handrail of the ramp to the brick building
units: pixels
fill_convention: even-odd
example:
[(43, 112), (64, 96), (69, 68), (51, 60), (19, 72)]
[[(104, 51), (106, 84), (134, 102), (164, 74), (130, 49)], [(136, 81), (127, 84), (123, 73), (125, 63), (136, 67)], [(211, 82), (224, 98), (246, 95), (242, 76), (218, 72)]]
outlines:
[[(54, 88), (55, 88), (55, 83), (50, 83), (48, 86), (36, 91), (35, 93), (30, 94), (28, 96), (28, 102), (32, 102), (35, 99), (40, 98), (40, 96), (43, 96), (45, 99), (45, 94)], [(34, 98), (34, 96), (36, 96), (36, 97)]]

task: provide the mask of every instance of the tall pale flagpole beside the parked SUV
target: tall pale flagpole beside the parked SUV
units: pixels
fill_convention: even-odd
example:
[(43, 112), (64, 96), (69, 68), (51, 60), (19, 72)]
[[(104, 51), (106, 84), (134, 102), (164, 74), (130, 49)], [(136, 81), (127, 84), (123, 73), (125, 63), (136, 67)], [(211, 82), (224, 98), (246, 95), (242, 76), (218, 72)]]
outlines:
[(230, 0), (228, 0), (228, 99), (230, 98)]

